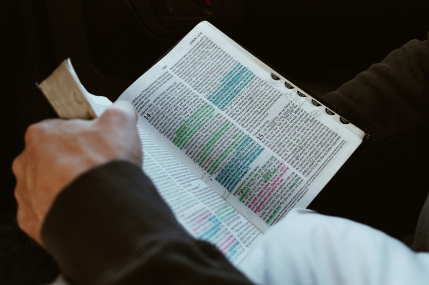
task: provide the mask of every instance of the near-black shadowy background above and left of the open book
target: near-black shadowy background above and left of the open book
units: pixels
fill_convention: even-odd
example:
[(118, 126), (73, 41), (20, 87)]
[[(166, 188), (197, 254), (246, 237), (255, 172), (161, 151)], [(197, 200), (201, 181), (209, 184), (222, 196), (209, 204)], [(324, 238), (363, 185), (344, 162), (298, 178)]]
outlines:
[[(411, 39), (426, 39), (429, 2), (20, 0), (3, 5), (6, 184), (0, 283), (47, 283), (58, 268), (15, 220), (13, 159), (33, 122), (56, 117), (35, 87), (70, 57), (85, 88), (115, 99), (200, 21), (323, 98)], [(12, 125), (9, 126), (9, 122)]]

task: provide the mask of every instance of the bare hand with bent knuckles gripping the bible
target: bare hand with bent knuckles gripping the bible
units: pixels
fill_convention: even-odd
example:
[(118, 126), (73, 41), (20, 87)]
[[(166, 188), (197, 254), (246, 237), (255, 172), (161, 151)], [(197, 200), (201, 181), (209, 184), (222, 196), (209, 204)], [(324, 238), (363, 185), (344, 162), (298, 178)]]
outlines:
[(20, 228), (42, 245), (40, 231), (57, 195), (87, 170), (112, 160), (141, 166), (134, 107), (118, 101), (93, 120), (47, 119), (28, 127), (15, 158), (15, 198)]

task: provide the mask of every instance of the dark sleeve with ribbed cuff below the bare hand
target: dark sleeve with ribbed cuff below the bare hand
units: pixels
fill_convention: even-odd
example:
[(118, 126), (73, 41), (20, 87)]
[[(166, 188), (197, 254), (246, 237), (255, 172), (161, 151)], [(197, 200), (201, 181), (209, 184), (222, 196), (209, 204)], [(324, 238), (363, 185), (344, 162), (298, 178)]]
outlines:
[(191, 237), (142, 170), (125, 161), (66, 187), (42, 241), (75, 284), (250, 283), (214, 246)]

